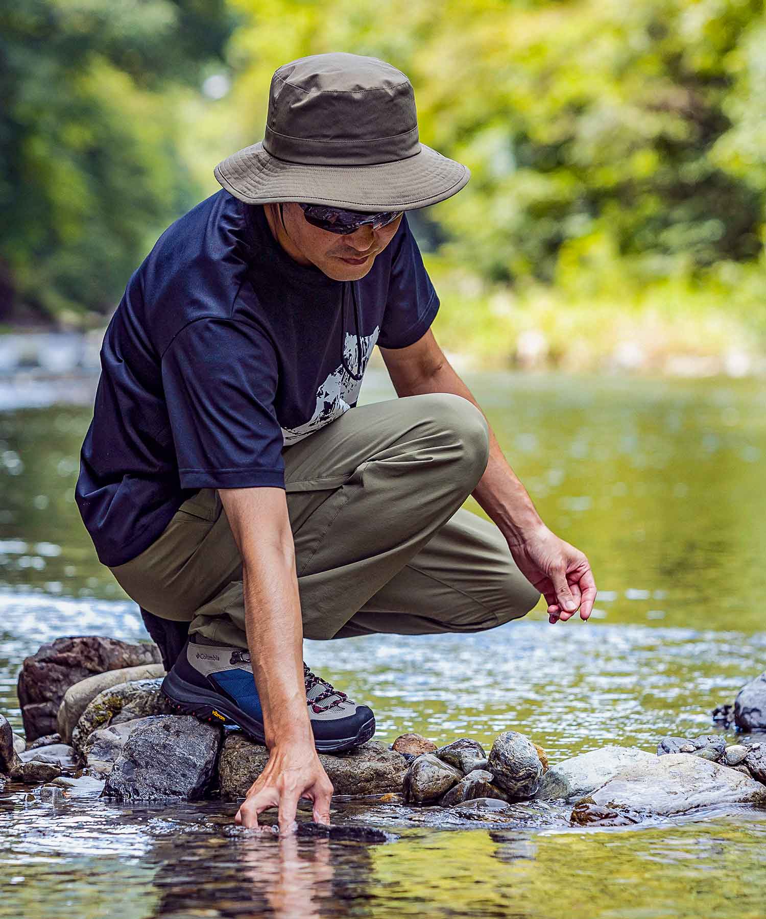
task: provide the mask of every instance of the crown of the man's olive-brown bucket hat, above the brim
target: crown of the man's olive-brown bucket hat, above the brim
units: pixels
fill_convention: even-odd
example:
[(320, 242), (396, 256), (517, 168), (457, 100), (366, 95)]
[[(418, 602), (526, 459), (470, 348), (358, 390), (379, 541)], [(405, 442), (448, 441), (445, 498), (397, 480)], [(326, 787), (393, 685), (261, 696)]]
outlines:
[(378, 58), (334, 51), (283, 64), (271, 77), (263, 141), (307, 165), (374, 165), (420, 152), (415, 93)]

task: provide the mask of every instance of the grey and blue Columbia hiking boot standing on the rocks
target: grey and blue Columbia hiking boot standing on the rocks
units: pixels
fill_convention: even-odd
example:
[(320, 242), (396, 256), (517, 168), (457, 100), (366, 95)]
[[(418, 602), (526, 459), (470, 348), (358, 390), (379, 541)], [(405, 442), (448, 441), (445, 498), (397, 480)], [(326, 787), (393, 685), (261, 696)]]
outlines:
[[(179, 712), (213, 723), (237, 725), (257, 743), (266, 743), (249, 652), (194, 639), (192, 636), (187, 641), (163, 680), (163, 693)], [(318, 751), (347, 750), (370, 740), (375, 732), (372, 709), (352, 702), (346, 693), (313, 674), (305, 663), (303, 682)]]

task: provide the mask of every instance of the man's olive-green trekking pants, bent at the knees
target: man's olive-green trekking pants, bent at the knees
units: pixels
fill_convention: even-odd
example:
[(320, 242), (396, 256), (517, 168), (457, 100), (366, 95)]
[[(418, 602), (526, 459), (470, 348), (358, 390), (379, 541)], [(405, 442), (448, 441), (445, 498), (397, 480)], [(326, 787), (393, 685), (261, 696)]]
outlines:
[[(532, 609), (540, 594), (500, 531), (461, 509), (487, 456), (484, 415), (452, 393), (357, 406), (284, 448), (304, 636), (472, 632)], [(216, 489), (110, 571), (143, 610), (247, 647), (242, 558)]]

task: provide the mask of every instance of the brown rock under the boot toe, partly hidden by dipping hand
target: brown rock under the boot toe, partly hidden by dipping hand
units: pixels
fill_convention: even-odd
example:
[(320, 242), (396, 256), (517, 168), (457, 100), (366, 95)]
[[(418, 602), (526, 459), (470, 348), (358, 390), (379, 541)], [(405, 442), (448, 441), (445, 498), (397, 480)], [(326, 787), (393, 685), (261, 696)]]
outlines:
[[(222, 796), (244, 798), (268, 760), (265, 746), (253, 743), (241, 733), (229, 734), (218, 764)], [(336, 795), (377, 795), (402, 790), (405, 757), (379, 741), (368, 741), (342, 753), (320, 753), (319, 761)]]

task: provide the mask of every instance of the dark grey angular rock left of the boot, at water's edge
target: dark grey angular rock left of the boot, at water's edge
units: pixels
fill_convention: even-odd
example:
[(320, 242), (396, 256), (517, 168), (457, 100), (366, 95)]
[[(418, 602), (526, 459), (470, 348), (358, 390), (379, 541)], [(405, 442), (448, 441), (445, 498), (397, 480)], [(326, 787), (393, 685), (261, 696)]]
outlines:
[(109, 773), (104, 797), (198, 800), (210, 785), (221, 728), (168, 715), (131, 733)]

